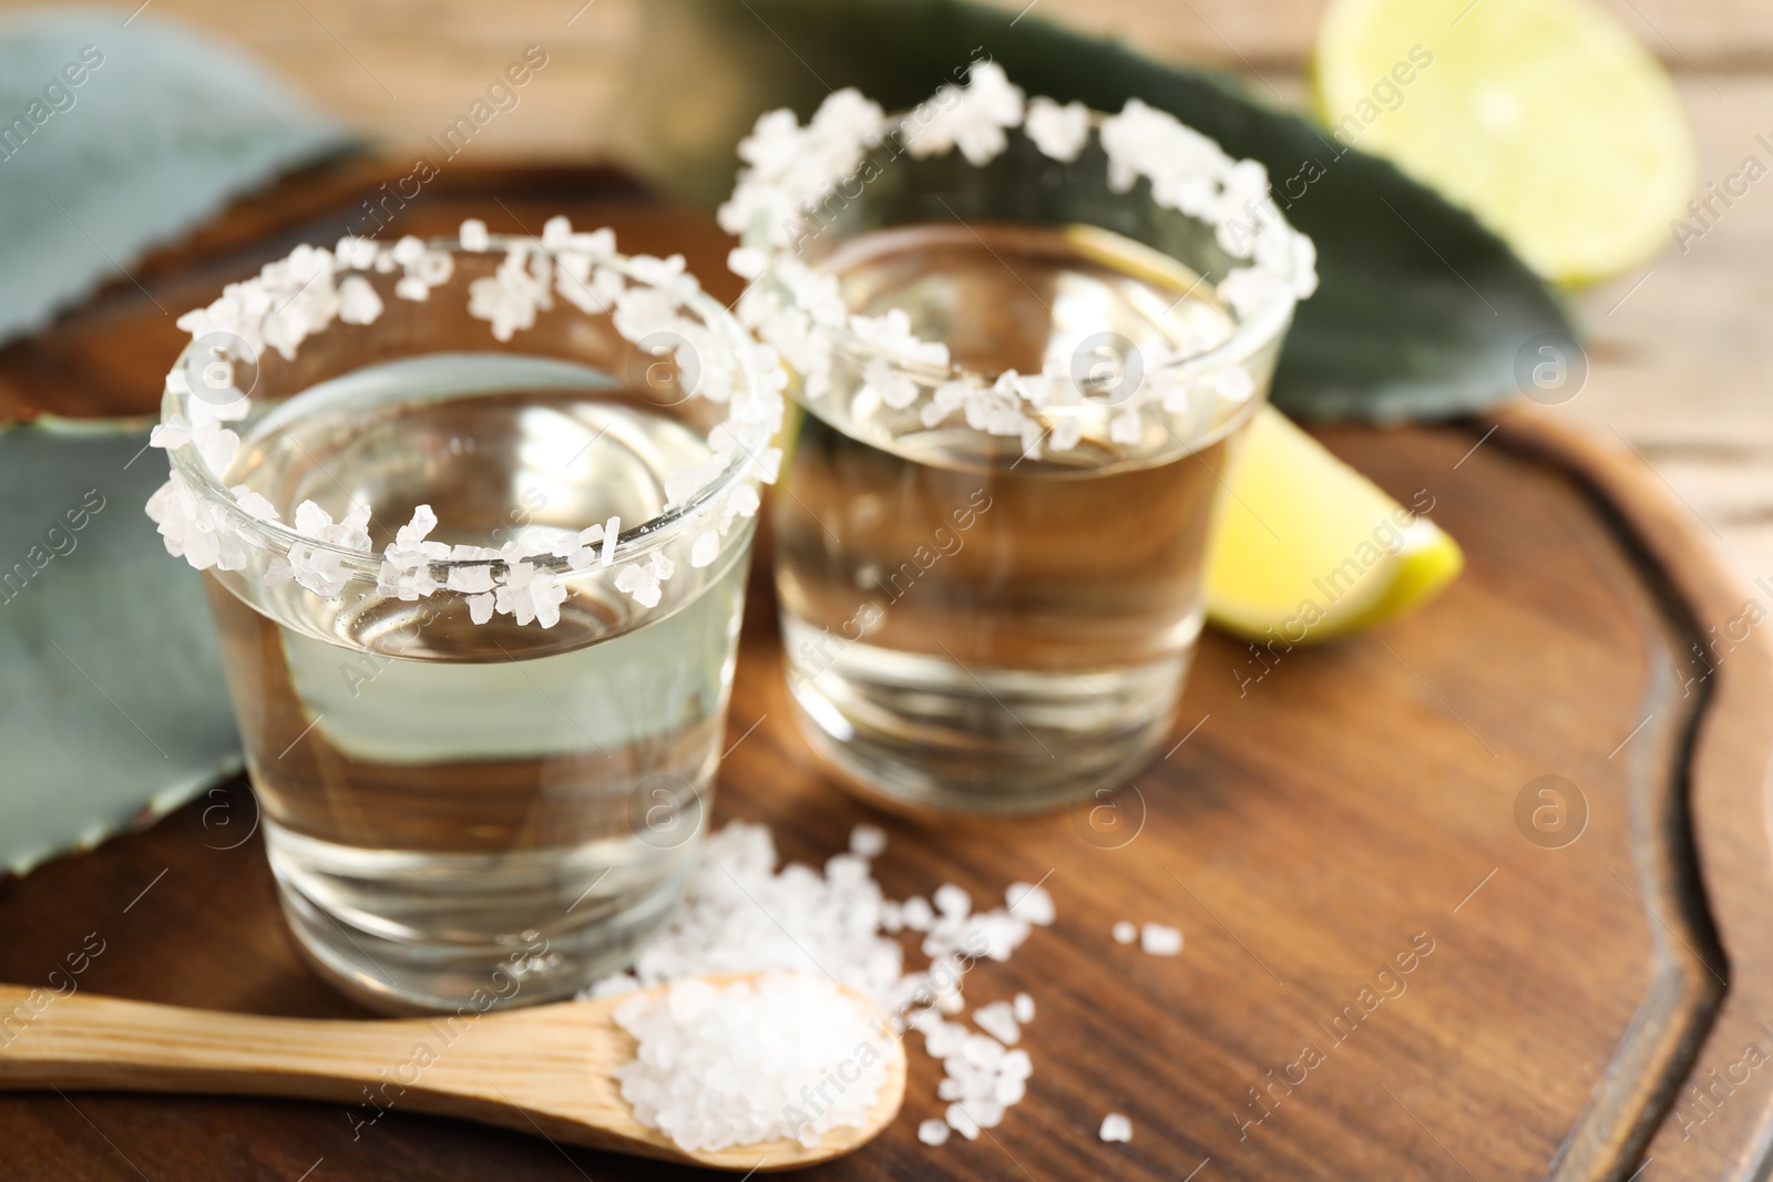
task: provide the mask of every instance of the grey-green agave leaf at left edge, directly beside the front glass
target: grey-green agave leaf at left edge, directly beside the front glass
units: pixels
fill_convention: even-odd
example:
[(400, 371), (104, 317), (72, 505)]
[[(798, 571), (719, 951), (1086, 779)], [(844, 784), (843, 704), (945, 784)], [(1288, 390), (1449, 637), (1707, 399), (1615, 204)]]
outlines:
[(0, 427), (0, 874), (85, 849), (239, 769), (199, 576), (142, 505), (147, 424)]

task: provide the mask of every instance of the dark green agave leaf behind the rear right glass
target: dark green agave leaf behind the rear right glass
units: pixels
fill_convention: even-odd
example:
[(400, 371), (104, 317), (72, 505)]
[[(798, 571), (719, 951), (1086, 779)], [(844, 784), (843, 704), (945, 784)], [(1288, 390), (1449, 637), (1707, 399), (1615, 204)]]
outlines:
[(957, 0), (647, 7), (617, 151), (706, 207), (732, 188), (734, 145), (759, 113), (793, 106), (807, 117), (840, 87), (906, 108), (982, 50), (1030, 96), (1106, 112), (1140, 97), (1268, 167), (1287, 218), (1317, 243), (1323, 280), (1300, 305), (1275, 377), (1275, 402), (1296, 416), (1480, 409), (1518, 393), (1516, 354), (1528, 338), (1573, 335), (1544, 282), (1470, 214), (1222, 74)]

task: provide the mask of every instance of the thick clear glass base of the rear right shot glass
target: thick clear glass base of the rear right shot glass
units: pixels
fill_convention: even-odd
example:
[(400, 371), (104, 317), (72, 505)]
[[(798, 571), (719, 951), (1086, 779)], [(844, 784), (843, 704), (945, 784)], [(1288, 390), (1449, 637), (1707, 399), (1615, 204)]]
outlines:
[(846, 645), (824, 668), (793, 654), (789, 696), (846, 787), (904, 812), (1039, 813), (1124, 787), (1170, 730), (1193, 652), (1087, 673), (968, 668)]

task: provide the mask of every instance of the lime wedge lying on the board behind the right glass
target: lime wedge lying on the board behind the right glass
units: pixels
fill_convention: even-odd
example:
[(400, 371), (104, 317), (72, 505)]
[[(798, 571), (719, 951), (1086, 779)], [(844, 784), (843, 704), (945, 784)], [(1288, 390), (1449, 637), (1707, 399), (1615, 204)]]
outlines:
[(1431, 599), (1457, 542), (1262, 408), (1230, 468), (1207, 555), (1207, 618), (1250, 640), (1330, 640)]

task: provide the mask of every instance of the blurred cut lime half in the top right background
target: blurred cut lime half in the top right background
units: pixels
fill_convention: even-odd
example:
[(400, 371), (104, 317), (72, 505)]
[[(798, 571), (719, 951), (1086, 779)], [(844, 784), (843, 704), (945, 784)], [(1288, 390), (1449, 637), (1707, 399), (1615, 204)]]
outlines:
[(1628, 271), (1686, 216), (1681, 99), (1590, 0), (1332, 0), (1314, 71), (1339, 145), (1390, 158), (1546, 278)]

